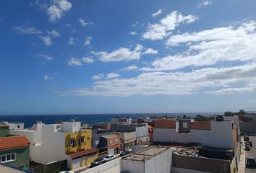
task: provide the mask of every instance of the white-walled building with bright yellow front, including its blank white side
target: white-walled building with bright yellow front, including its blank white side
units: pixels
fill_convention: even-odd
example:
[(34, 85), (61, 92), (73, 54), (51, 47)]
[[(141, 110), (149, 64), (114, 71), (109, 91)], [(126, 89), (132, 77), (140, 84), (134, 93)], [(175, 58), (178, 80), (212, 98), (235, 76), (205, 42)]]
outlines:
[(98, 157), (98, 150), (91, 147), (92, 130), (81, 128), (81, 123), (74, 120), (50, 125), (39, 122), (30, 129), (10, 133), (27, 136), (33, 143), (30, 159), (40, 164), (67, 160), (67, 167), (75, 169)]

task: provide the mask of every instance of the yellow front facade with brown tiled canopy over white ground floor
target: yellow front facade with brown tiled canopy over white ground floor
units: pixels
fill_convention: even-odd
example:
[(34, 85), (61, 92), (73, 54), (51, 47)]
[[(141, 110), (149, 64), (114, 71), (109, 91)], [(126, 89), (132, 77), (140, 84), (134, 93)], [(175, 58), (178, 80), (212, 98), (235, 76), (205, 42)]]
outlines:
[(92, 130), (65, 133), (65, 154), (71, 158), (71, 169), (90, 165), (97, 159), (98, 149), (92, 148)]

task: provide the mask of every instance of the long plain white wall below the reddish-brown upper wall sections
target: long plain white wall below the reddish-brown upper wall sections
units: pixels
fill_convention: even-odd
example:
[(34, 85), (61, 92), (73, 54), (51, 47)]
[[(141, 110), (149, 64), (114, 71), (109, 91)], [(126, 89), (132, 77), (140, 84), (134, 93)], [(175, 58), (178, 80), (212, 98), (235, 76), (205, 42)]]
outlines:
[(231, 121), (211, 121), (211, 130), (190, 130), (176, 133), (176, 129), (154, 128), (154, 142), (201, 143), (202, 146), (234, 148)]

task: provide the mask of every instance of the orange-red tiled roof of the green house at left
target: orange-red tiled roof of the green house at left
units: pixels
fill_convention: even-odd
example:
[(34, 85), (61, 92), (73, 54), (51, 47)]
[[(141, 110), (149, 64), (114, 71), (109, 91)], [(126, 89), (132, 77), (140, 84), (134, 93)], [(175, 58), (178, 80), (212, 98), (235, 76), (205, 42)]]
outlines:
[(25, 136), (9, 136), (0, 138), (0, 150), (29, 146), (30, 141)]

